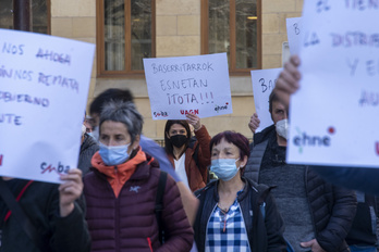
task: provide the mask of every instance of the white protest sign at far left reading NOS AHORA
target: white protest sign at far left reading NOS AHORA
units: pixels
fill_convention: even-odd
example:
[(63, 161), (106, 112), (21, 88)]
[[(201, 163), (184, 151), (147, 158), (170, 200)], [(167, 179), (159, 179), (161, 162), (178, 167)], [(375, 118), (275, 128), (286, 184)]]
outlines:
[(0, 175), (60, 182), (77, 165), (95, 45), (0, 29)]

